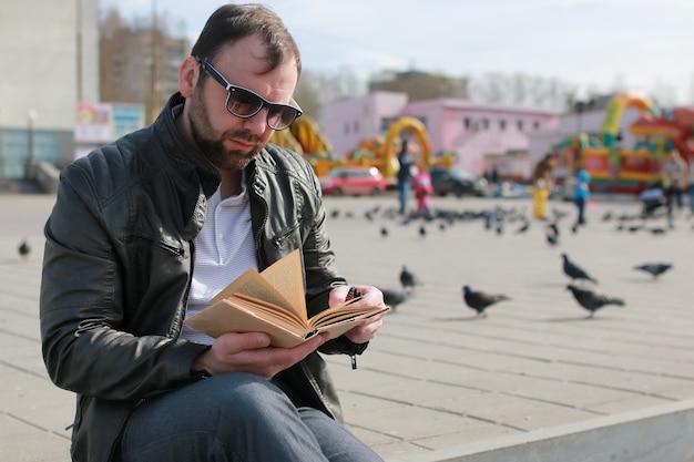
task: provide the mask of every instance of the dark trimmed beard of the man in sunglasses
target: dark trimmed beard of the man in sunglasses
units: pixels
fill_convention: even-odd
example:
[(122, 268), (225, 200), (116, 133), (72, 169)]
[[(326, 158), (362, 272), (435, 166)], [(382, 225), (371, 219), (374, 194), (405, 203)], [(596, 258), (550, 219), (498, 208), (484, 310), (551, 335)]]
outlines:
[[(242, 171), (265, 147), (259, 136), (242, 129), (228, 130), (218, 136), (213, 129), (202, 90), (196, 89), (191, 97), (190, 122), (195, 145), (207, 162), (218, 170)], [(249, 151), (229, 150), (224, 146), (225, 140), (242, 140), (254, 146)]]

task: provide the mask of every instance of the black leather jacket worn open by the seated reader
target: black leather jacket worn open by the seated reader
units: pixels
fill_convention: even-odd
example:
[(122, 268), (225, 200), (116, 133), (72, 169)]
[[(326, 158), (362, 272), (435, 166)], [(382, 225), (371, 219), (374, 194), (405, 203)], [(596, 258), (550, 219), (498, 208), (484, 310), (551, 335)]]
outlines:
[[(217, 172), (181, 137), (173, 107), (151, 126), (65, 167), (45, 225), (41, 284), (43, 358), (55, 384), (78, 393), (74, 461), (118, 459), (120, 434), (143, 400), (200, 378), (207, 347), (180, 339), (194, 239)], [(268, 145), (246, 172), (259, 269), (302, 248), (309, 316), (327, 307), (338, 276), (310, 166)], [(345, 337), (325, 353), (360, 353)], [(302, 402), (341, 419), (318, 353), (282, 373)]]

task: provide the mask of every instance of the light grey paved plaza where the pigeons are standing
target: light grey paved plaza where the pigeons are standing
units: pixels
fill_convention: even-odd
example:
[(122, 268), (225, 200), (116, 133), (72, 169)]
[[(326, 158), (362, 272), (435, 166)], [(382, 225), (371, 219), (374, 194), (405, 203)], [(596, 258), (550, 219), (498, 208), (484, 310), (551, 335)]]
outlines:
[[(73, 396), (47, 377), (38, 322), (52, 202), (0, 194), (2, 461), (70, 459)], [(359, 438), (388, 462), (694, 460), (694, 220), (683, 214), (675, 229), (653, 233), (663, 219), (635, 219), (618, 230), (615, 217), (636, 215), (640, 205), (600, 199), (572, 234), (573, 206), (551, 202), (550, 211), (569, 216), (550, 246), (541, 222), (517, 234), (519, 220), (497, 233), (479, 218), (494, 207), (530, 216), (529, 199), (433, 205), (456, 218), (402, 224), (395, 196), (326, 198), (338, 267), (350, 283), (399, 289), (402, 265), (422, 281), (386, 317), (357, 370), (349, 358), (326, 358)], [(603, 222), (608, 212), (613, 218)], [(24, 237), (33, 248), (25, 260), (17, 253)], [(598, 279), (585, 287), (625, 307), (588, 319), (565, 290), (562, 253)], [(633, 269), (652, 260), (674, 269), (660, 280)], [(476, 318), (462, 285), (510, 300)]]

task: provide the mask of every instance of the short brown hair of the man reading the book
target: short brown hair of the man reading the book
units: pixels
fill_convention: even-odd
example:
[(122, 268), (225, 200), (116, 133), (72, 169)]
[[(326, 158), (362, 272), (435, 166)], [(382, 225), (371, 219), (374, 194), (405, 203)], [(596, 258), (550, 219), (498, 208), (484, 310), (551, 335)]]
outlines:
[(267, 72), (294, 59), (297, 73), (302, 74), (302, 58), (294, 38), (274, 11), (257, 3), (220, 7), (207, 19), (191, 54), (213, 61), (223, 47), (255, 34), (267, 47)]

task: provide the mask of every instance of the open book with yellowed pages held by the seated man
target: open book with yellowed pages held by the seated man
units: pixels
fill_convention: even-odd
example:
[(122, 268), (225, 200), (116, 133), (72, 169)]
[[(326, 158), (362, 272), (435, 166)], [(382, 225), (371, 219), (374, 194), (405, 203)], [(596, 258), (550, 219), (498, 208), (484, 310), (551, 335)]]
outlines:
[(338, 337), (364, 319), (388, 310), (351, 306), (357, 299), (308, 318), (302, 255), (296, 249), (262, 273), (248, 269), (185, 324), (213, 338), (226, 332), (266, 332), (272, 346), (290, 348), (324, 331)]

